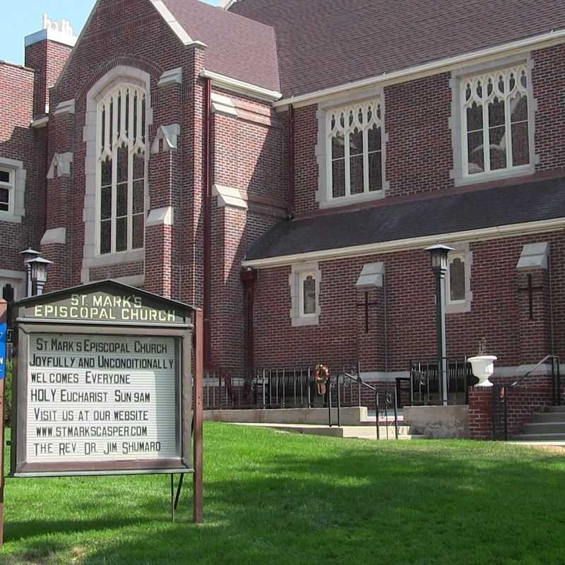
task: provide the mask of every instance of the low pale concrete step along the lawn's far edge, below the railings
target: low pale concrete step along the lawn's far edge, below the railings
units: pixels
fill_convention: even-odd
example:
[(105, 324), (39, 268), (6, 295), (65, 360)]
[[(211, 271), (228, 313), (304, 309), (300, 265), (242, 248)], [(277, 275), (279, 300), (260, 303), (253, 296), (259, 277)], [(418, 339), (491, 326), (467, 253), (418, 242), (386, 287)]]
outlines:
[[(343, 437), (348, 439), (373, 439), (376, 440), (376, 426), (342, 426), (329, 427), (328, 425), (316, 424), (273, 424), (273, 423), (257, 423), (257, 422), (234, 422), (239, 426), (262, 427), (266, 429), (275, 429), (278, 432), (291, 432), (295, 434), (310, 434), (316, 436)], [(394, 426), (379, 426), (379, 435), (381, 440), (394, 440)], [(427, 439), (427, 436), (410, 434), (409, 426), (398, 427), (398, 439)]]

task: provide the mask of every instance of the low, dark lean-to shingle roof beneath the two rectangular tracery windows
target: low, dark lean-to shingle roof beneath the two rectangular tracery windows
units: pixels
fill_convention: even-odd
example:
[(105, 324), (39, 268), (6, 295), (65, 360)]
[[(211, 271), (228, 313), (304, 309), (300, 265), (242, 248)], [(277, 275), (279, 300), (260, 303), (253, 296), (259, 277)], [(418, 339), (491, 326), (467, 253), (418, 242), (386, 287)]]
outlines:
[(554, 218), (565, 218), (565, 179), (285, 220), (252, 246), (247, 259), (254, 261)]

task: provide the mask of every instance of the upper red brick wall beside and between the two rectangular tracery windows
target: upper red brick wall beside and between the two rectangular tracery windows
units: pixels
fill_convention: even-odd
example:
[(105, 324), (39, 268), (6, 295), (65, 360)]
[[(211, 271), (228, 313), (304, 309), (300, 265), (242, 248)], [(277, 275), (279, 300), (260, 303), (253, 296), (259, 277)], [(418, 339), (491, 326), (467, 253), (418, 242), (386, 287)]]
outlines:
[[(565, 167), (565, 45), (532, 53), (538, 171)], [(384, 88), (387, 197), (450, 189), (451, 73)], [(317, 105), (295, 110), (295, 213), (318, 208)], [(283, 121), (287, 122), (287, 113)]]

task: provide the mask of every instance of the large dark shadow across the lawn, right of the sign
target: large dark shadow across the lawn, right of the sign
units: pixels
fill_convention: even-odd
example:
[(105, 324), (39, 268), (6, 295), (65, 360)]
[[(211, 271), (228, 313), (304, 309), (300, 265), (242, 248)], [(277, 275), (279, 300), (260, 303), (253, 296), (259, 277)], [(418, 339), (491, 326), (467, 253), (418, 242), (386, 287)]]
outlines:
[(115, 519), (79, 524), (122, 532), (96, 543), (79, 562), (565, 562), (559, 458), (436, 445), (417, 451), (329, 449), (316, 456), (286, 452), (259, 466), (240, 460), (227, 477), (207, 482), (205, 525), (189, 523), (189, 483), (182, 523), (155, 525), (150, 504), (148, 519), (137, 528)]

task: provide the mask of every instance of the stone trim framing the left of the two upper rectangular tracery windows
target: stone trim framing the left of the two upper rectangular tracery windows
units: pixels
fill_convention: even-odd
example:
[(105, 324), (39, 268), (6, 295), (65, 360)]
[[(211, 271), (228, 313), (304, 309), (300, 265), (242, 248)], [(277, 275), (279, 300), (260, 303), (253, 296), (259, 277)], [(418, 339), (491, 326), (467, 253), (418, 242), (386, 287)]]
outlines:
[[(354, 194), (352, 196), (343, 196), (340, 198), (329, 198), (328, 196), (328, 131), (327, 131), (327, 114), (328, 111), (335, 107), (347, 105), (350, 102), (362, 102), (371, 100), (371, 98), (379, 98), (381, 103), (382, 124), (381, 131), (381, 166), (383, 168), (383, 189), (363, 194)], [(316, 190), (316, 202), (320, 208), (334, 208), (337, 206), (347, 206), (359, 202), (367, 202), (381, 200), (386, 196), (386, 191), (390, 186), (390, 182), (386, 180), (386, 145), (388, 144), (388, 133), (386, 133), (386, 105), (384, 97), (384, 89), (380, 87), (363, 90), (360, 93), (347, 93), (343, 96), (335, 98), (329, 102), (320, 102), (316, 112), (318, 119), (318, 142), (316, 143), (316, 162), (318, 163), (318, 190)]]

